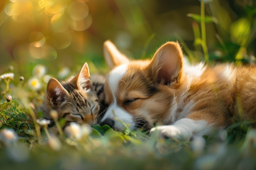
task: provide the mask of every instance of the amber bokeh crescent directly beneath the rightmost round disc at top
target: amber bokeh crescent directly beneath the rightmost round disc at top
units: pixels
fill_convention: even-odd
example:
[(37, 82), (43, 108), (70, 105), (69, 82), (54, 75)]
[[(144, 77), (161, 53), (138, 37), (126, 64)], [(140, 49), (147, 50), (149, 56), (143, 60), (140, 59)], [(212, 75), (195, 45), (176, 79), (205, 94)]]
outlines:
[(84, 31), (92, 24), (92, 17), (88, 15), (84, 20), (71, 20), (70, 27), (75, 31)]

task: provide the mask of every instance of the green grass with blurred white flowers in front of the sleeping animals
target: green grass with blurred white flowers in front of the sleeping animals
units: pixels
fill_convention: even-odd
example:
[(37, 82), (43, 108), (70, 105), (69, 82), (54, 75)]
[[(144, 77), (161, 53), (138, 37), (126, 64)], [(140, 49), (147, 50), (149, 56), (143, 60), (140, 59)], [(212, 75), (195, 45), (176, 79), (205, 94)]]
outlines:
[[(124, 132), (94, 125), (78, 126), (77, 134), (60, 135), (57, 128), (47, 130), (33, 121), (33, 115), (42, 117), (36, 109), (46, 86), (41, 83), (41, 89), (36, 91), (30, 90), (27, 83), (10, 85), (10, 94), (22, 88), (28, 98), (7, 102), (4, 98), (8, 93), (1, 95), (1, 170), (256, 168), (256, 130), (252, 128), (255, 121), (238, 121), (226, 130), (204, 136), (205, 140), (193, 141), (162, 139), (139, 129), (130, 130), (128, 125)], [(41, 127), (39, 132), (36, 126)], [(12, 129), (16, 135), (4, 136), (4, 129)]]

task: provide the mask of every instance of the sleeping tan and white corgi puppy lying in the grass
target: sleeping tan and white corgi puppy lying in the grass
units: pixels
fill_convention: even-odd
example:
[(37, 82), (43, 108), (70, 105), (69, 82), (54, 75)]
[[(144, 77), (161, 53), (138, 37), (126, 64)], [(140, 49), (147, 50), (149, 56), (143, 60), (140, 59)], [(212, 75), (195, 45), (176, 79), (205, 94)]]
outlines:
[[(190, 66), (178, 42), (163, 44), (152, 60), (130, 61), (106, 41), (104, 55), (112, 71), (104, 86), (109, 108), (101, 126), (124, 130), (125, 123), (133, 130), (190, 139), (236, 119), (256, 119), (255, 66)], [(157, 123), (163, 125), (154, 127)]]

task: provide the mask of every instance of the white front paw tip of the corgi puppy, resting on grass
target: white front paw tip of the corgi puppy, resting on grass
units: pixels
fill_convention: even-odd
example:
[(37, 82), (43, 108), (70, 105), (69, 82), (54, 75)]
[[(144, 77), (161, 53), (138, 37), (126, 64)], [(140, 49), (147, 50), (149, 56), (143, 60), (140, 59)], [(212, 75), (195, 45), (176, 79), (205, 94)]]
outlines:
[(150, 134), (158, 133), (160, 137), (189, 139), (192, 136), (191, 132), (187, 132), (184, 128), (175, 125), (157, 126), (150, 130)]

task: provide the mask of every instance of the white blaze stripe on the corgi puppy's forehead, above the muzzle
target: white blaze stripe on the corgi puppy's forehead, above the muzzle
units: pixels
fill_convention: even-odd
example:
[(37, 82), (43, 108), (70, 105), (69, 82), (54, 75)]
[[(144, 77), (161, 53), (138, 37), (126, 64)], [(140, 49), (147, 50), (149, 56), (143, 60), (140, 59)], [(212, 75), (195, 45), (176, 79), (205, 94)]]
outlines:
[(114, 101), (116, 100), (116, 92), (117, 92), (117, 86), (119, 83), (119, 80), (124, 77), (127, 71), (127, 65), (123, 64), (115, 68), (110, 72), (110, 75), (108, 77), (108, 83), (110, 87), (111, 94), (114, 98)]

